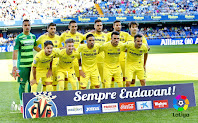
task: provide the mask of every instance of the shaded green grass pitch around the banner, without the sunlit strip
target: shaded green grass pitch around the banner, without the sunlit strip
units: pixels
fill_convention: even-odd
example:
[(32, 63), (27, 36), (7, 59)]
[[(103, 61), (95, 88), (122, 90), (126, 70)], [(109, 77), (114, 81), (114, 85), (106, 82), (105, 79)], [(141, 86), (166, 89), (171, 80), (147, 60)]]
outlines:
[[(183, 46), (151, 46), (150, 54), (162, 53), (198, 53), (198, 45)], [(198, 56), (197, 56), (198, 57)], [(12, 53), (0, 53), (0, 59), (11, 59)], [(192, 59), (193, 60), (193, 59)], [(1, 61), (0, 61), (1, 62)], [(197, 72), (198, 73), (198, 72)], [(195, 98), (198, 99), (198, 80), (185, 81), (147, 81), (147, 85), (194, 83)], [(137, 86), (139, 86), (137, 81)], [(174, 117), (173, 113), (180, 113), (175, 109), (144, 110), (133, 112), (118, 112), (105, 114), (90, 114), (78, 116), (64, 116), (55, 118), (23, 119), (21, 113), (11, 111), (13, 101), (19, 104), (18, 83), (0, 82), (0, 122), (64, 122), (64, 123), (125, 123), (125, 122), (198, 122), (198, 107), (189, 107), (183, 114), (189, 117)], [(198, 101), (196, 101), (198, 105)]]

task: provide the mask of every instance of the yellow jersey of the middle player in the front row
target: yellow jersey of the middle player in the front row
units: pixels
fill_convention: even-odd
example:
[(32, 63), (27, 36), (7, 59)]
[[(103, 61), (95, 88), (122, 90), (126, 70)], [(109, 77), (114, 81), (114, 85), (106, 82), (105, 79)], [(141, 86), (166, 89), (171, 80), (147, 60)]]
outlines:
[(78, 48), (78, 52), (81, 54), (82, 67), (84, 70), (96, 69), (97, 61), (96, 57), (99, 53), (100, 45), (95, 44), (92, 49), (87, 47), (87, 44), (82, 44)]

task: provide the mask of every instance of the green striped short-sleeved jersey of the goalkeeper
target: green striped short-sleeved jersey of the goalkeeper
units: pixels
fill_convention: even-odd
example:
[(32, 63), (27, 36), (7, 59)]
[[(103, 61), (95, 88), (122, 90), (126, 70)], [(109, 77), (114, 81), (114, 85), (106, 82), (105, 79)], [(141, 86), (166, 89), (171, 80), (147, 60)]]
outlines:
[(21, 33), (15, 39), (14, 50), (18, 50), (18, 67), (31, 67), (33, 61), (33, 48), (36, 46), (36, 36), (32, 33)]

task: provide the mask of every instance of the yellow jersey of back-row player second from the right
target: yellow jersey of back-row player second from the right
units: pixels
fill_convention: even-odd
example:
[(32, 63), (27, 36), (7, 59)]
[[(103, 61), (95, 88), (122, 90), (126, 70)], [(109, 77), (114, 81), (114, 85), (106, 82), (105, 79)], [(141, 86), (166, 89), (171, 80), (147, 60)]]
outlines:
[[(112, 32), (107, 33), (107, 41), (111, 41), (111, 33)], [(127, 42), (129, 36), (129, 33), (120, 31), (120, 41), (122, 43)]]

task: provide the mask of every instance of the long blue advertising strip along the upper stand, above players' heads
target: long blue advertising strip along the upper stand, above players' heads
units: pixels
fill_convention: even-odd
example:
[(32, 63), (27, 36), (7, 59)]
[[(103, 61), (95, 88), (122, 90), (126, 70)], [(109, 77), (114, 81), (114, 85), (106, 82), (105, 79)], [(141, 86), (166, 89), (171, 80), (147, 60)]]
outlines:
[[(156, 15), (156, 16), (119, 16), (119, 17), (76, 17), (76, 18), (65, 18), (65, 19), (42, 19), (42, 20), (31, 20), (32, 25), (44, 25), (54, 22), (56, 24), (68, 24), (71, 20), (75, 20), (77, 23), (94, 23), (94, 20), (101, 19), (102, 22), (114, 22), (115, 20), (130, 22), (130, 21), (196, 21), (198, 14), (194, 15)], [(21, 26), (22, 20), (10, 20), (0, 21), (0, 26)]]

